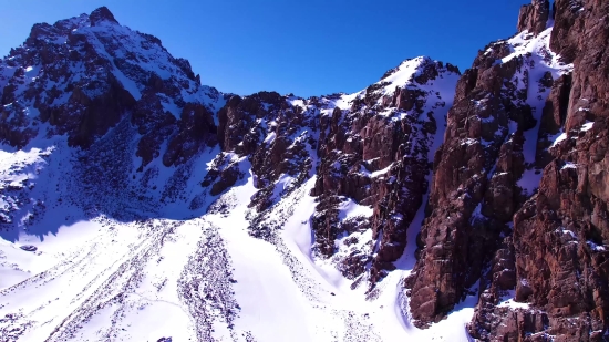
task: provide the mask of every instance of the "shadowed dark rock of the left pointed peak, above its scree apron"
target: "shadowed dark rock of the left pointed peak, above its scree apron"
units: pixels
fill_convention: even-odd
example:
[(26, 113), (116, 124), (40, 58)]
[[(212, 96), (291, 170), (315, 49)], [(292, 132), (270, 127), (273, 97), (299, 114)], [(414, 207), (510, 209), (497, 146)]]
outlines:
[(42, 129), (86, 148), (133, 113), (143, 166), (167, 139), (174, 143), (166, 165), (189, 158), (194, 152), (176, 145), (209, 141), (216, 129), (210, 104), (224, 102), (196, 81), (187, 61), (174, 59), (155, 37), (121, 27), (106, 8), (35, 24), (2, 60), (0, 95), (1, 138), (19, 147)]

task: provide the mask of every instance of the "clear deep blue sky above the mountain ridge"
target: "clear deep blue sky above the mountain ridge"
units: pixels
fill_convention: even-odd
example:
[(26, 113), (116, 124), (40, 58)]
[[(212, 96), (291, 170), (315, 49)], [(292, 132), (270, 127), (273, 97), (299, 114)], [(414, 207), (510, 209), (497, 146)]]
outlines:
[(32, 24), (106, 6), (158, 37), (224, 92), (300, 96), (355, 92), (419, 55), (468, 68), (478, 49), (516, 32), (530, 0), (3, 0), (0, 54)]

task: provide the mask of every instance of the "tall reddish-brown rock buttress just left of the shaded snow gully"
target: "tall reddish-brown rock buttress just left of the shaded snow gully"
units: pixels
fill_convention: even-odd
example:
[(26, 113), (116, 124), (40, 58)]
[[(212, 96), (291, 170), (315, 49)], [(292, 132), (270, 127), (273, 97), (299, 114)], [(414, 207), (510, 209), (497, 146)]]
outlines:
[[(505, 43), (481, 52), (457, 84), (444, 144), (435, 153), (419, 262), (405, 286), (415, 323), (442, 319), (483, 276), (525, 197), (523, 133), (535, 127), (526, 103), (528, 61)], [(524, 84), (524, 87), (523, 87)], [(517, 124), (510, 133), (509, 122)], [(475, 290), (475, 289), (474, 289)]]

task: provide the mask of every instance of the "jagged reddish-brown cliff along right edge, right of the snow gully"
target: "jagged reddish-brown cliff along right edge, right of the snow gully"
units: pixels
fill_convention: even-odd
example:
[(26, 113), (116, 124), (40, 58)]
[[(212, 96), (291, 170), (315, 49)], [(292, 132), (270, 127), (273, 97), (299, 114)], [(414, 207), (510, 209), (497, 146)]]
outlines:
[[(555, 2), (549, 45), (564, 61), (574, 62), (574, 69), (551, 82), (536, 145), (536, 167), (544, 168), (539, 190), (514, 214), (514, 234), (505, 245), (509, 253), (505, 248), (495, 253), (495, 265), (499, 255), (507, 265), (493, 267), (487, 277), (469, 325), (474, 338), (607, 339), (609, 95), (601, 70), (609, 62), (602, 52), (609, 31), (598, 23), (608, 14), (602, 1)], [(550, 83), (541, 80), (540, 85), (547, 89)], [(508, 283), (499, 281), (503, 267), (509, 270)], [(512, 284), (514, 300), (530, 309), (497, 307)]]

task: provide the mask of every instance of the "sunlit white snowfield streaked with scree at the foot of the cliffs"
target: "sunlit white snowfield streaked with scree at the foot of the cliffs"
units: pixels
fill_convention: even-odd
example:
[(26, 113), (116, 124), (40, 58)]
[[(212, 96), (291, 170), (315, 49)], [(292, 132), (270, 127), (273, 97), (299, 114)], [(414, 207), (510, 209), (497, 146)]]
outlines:
[[(455, 333), (466, 341), (471, 308), (424, 331), (404, 320), (407, 270), (367, 300), (363, 287), (351, 290), (333, 265), (312, 257), (314, 198), (304, 194), (314, 179), (273, 209), (292, 209), (276, 243), (251, 237), (251, 179), (211, 207), (230, 204), (228, 214), (134, 222), (100, 216), (2, 240), (3, 341), (455, 341)], [(345, 215), (361, 214), (358, 207)]]

